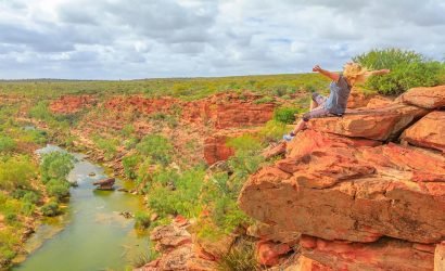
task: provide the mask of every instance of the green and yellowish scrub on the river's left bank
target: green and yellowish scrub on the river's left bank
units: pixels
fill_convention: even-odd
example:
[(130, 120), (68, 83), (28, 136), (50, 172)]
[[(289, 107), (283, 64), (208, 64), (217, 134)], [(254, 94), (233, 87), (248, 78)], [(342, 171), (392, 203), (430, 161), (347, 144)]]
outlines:
[(40, 163), (34, 151), (48, 133), (17, 122), (17, 104), (0, 105), (0, 267), (21, 251), (36, 219), (58, 215), (69, 194), (67, 154), (48, 154)]

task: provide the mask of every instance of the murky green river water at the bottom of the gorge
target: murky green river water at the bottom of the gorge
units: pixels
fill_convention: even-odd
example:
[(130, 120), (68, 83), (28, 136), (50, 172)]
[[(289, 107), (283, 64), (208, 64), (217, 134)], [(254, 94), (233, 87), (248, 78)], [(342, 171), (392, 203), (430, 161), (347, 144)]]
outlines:
[[(48, 145), (40, 153), (61, 151)], [(119, 191), (98, 191), (92, 182), (106, 175), (98, 165), (74, 154), (78, 159), (68, 176), (77, 188), (64, 216), (46, 220), (28, 240), (26, 260), (14, 271), (98, 271), (128, 270), (131, 261), (149, 250), (147, 234), (134, 230), (134, 219), (125, 219), (120, 211), (143, 210), (142, 199)], [(94, 172), (93, 177), (89, 175)], [(116, 180), (116, 188), (130, 183)]]

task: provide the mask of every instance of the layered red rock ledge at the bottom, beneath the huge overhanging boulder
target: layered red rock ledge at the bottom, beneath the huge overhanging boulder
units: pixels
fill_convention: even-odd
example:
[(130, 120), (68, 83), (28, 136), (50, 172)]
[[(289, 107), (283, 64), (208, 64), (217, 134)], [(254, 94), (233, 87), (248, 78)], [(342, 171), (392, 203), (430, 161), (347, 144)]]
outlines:
[(434, 264), (433, 245), (418, 249), (416, 244), (394, 238), (363, 244), (304, 235), (301, 245), (304, 256), (333, 270), (431, 271)]

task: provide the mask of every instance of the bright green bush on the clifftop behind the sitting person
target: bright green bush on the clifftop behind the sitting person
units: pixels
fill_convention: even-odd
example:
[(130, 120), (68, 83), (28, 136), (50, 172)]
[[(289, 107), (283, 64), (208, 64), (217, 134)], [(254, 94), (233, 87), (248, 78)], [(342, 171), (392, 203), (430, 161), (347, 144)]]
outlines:
[(399, 94), (415, 87), (441, 83), (444, 65), (428, 60), (420, 53), (400, 49), (372, 50), (353, 57), (353, 61), (370, 69), (389, 68), (385, 76), (372, 76), (366, 86), (382, 94)]

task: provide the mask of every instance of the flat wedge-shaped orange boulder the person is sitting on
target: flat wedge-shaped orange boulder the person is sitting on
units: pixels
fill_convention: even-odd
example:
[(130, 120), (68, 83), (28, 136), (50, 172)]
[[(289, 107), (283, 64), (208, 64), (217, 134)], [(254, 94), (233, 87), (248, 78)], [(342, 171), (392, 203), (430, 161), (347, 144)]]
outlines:
[(308, 127), (346, 137), (386, 141), (398, 137), (406, 127), (428, 113), (417, 106), (393, 103), (384, 107), (349, 111), (343, 117), (314, 118)]

